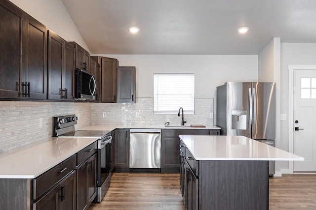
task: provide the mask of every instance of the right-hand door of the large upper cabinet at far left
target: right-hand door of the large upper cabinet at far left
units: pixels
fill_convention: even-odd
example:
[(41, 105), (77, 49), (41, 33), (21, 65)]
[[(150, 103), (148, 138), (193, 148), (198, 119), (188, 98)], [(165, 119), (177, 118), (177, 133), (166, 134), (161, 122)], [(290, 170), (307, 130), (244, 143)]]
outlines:
[(47, 28), (29, 15), (22, 35), (22, 86), (26, 98), (47, 98)]

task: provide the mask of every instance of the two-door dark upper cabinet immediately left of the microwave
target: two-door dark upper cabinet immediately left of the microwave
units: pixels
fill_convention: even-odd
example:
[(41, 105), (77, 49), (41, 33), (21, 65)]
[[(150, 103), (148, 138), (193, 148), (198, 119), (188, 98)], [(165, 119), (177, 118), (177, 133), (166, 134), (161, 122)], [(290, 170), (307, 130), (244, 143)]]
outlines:
[(48, 99), (74, 100), (75, 46), (48, 31)]

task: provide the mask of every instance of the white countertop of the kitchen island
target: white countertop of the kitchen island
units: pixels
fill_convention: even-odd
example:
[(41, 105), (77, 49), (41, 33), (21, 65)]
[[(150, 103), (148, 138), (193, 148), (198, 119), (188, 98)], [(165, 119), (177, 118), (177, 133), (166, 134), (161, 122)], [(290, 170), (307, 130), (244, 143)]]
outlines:
[(304, 160), (244, 136), (180, 136), (196, 160)]

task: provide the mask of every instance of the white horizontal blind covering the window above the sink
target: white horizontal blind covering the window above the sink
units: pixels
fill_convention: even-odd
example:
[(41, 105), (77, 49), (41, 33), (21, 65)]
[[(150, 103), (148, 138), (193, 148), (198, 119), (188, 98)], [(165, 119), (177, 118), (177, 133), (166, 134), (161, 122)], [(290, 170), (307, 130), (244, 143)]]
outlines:
[(194, 114), (194, 74), (154, 74), (154, 114)]

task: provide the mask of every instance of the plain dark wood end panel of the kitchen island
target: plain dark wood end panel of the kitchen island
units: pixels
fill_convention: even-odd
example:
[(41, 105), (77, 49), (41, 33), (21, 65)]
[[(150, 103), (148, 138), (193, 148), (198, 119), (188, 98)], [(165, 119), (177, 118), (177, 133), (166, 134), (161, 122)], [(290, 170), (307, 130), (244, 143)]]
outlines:
[(200, 210), (269, 209), (269, 161), (199, 162)]

